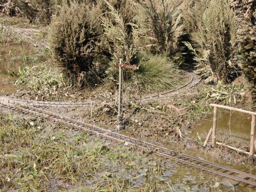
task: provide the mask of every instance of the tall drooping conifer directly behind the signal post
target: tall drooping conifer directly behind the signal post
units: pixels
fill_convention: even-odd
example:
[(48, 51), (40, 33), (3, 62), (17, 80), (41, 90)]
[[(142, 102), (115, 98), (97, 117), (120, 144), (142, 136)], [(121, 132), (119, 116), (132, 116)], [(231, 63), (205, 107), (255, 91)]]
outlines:
[(102, 18), (105, 30), (105, 42), (110, 47), (112, 61), (107, 70), (109, 79), (117, 81), (119, 59), (122, 58), (127, 64), (137, 64), (138, 33), (135, 20), (135, 3), (132, 0), (102, 3), (106, 6)]

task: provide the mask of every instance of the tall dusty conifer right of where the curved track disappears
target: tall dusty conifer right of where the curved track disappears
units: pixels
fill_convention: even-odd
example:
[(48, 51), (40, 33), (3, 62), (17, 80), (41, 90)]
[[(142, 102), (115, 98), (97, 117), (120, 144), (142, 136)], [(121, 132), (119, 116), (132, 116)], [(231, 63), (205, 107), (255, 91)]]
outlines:
[[(186, 17), (193, 17), (193, 14), (189, 16), (189, 12), (185, 14), (188, 14)], [(201, 11), (195, 14), (201, 14)], [(194, 29), (194, 20), (189, 21), (193, 45), (186, 42), (186, 46), (195, 55), (198, 73), (206, 82), (230, 81), (237, 72), (235, 58), (238, 27), (229, 1), (205, 0), (205, 11), (201, 17), (198, 15), (194, 18), (197, 19)]]

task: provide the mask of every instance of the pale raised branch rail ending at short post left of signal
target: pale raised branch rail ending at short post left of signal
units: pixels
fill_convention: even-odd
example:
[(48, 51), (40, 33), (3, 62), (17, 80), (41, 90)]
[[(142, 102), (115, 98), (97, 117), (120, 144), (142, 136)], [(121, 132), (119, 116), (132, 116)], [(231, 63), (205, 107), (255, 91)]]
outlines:
[(5, 96), (0, 96), (0, 101), (7, 102), (10, 104), (26, 104), (33, 106), (51, 106), (51, 107), (72, 107), (72, 106), (90, 106), (92, 107), (93, 102), (90, 103), (72, 103), (72, 102), (42, 102), (42, 101), (32, 101), (23, 99), (12, 99)]

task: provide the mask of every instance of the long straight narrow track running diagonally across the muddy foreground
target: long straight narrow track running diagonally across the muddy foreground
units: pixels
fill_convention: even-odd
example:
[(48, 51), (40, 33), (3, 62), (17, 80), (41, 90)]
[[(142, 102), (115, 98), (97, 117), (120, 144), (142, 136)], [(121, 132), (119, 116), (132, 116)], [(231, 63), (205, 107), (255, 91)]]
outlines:
[(192, 156), (189, 156), (186, 154), (178, 153), (178, 152), (172, 151), (167, 148), (163, 148), (158, 145), (143, 142), (143, 141), (137, 140), (132, 137), (118, 134), (116, 132), (106, 130), (103, 128), (99, 128), (94, 125), (89, 125), (87, 123), (80, 122), (75, 119), (70, 119), (68, 117), (61, 116), (61, 115), (58, 115), (58, 114), (55, 114), (55, 113), (52, 113), (49, 111), (45, 111), (40, 108), (35, 108), (35, 107), (29, 106), (29, 105), (27, 105), (27, 106), (26, 105), (24, 105), (24, 106), (12, 105), (12, 104), (5, 103), (3, 101), (0, 101), (0, 103), (1, 103), (0, 105), (9, 107), (10, 109), (14, 109), (16, 111), (20, 111), (24, 114), (37, 115), (37, 116), (45, 117), (48, 119), (52, 119), (55, 122), (62, 122), (66, 125), (72, 126), (73, 128), (78, 128), (80, 130), (87, 131), (90, 134), (95, 134), (98, 137), (104, 137), (108, 140), (123, 143), (123, 144), (125, 144), (125, 146), (130, 145), (130, 146), (137, 147), (137, 149), (141, 149), (141, 150), (149, 148), (149, 149), (154, 150), (155, 154), (157, 154), (159, 156), (166, 157), (166, 158), (169, 158), (172, 160), (176, 160), (177, 162), (186, 164), (188, 166), (193, 166), (195, 168), (198, 168), (198, 169), (201, 169), (204, 171), (208, 171), (208, 172), (212, 172), (212, 173), (214, 173), (216, 175), (220, 175), (222, 177), (227, 177), (229, 179), (242, 182), (244, 184), (244, 186), (248, 186), (251, 188), (256, 187), (256, 175), (248, 174), (246, 172), (241, 172), (239, 170), (232, 169), (232, 168), (229, 168), (226, 166), (221, 166), (221, 165), (218, 165), (215, 163), (211, 163), (207, 160), (203, 160), (203, 159), (200, 159), (197, 157), (192, 157)]

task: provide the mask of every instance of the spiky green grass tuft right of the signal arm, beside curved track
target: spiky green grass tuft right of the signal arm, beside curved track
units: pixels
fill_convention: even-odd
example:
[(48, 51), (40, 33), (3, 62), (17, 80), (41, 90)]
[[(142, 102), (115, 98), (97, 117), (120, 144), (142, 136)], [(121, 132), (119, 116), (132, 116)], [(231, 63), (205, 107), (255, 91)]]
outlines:
[(143, 93), (170, 90), (181, 84), (183, 76), (167, 55), (143, 54), (134, 82)]

